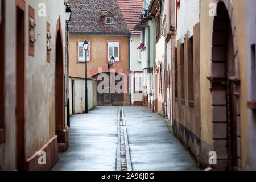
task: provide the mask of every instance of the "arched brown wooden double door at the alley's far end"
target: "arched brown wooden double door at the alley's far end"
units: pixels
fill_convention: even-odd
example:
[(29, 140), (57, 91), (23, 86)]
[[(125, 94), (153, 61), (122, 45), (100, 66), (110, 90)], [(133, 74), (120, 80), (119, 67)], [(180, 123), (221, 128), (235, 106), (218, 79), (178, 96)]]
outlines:
[[(108, 90), (108, 92), (104, 92), (104, 93), (101, 93), (99, 92), (98, 90), (98, 85), (101, 84), (102, 81), (105, 81), (105, 77), (104, 78), (98, 78), (98, 76), (100, 76), (102, 74), (102, 76), (106, 76), (106, 80), (108, 82), (108, 88), (105, 88), (104, 86), (102, 86), (101, 88), (103, 90)], [(98, 75), (94, 75), (92, 78), (97, 80), (97, 106), (119, 106), (119, 105), (123, 105), (123, 101), (124, 101), (124, 94), (123, 92), (122, 93), (117, 93), (117, 90), (115, 90), (116, 86), (118, 85), (118, 83), (120, 81), (125, 81), (125, 76), (121, 75), (121, 74), (118, 74), (118, 73), (115, 73), (114, 75), (114, 78), (113, 78), (113, 81), (114, 81), (114, 85), (113, 87), (111, 87), (111, 73), (100, 73)], [(117, 76), (118, 75), (118, 76)], [(118, 79), (115, 79), (117, 77), (121, 77), (120, 80), (119, 78)], [(124, 82), (125, 84), (125, 82)], [(122, 86), (120, 87), (121, 89), (124, 89), (122, 88)]]

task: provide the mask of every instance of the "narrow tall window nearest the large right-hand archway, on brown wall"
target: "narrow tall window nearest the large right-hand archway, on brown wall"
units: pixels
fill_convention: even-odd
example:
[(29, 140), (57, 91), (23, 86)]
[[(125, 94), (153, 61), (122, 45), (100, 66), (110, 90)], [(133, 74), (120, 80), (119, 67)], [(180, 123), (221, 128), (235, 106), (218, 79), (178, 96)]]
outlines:
[(188, 101), (194, 101), (193, 36), (188, 41)]

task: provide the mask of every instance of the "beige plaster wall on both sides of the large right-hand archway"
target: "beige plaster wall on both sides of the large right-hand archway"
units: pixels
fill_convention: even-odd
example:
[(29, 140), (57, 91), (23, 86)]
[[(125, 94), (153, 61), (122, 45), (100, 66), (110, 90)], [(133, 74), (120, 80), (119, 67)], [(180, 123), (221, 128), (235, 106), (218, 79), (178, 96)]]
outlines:
[[(212, 145), (212, 107), (210, 94), (211, 75), (211, 37), (212, 18), (208, 15), (209, 3), (213, 0), (201, 1), (201, 48), (200, 48), (200, 79), (201, 79), (201, 140)], [(241, 127), (241, 162), (242, 169), (249, 169), (248, 162), (248, 114), (247, 114), (247, 56), (246, 56), (246, 1), (231, 1), (233, 5), (233, 18), (236, 26), (238, 68), (241, 78), (240, 86), (240, 127)]]

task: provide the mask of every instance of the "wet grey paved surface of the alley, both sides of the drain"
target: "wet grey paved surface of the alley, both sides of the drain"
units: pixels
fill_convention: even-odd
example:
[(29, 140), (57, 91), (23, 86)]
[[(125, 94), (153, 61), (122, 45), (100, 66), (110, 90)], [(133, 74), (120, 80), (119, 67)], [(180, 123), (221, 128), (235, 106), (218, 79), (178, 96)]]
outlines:
[[(89, 114), (73, 115), (69, 148), (59, 154), (59, 161), (53, 170), (121, 170), (120, 110), (122, 106), (99, 106)], [(128, 139), (128, 148), (125, 146), (127, 170), (200, 169), (158, 114), (143, 106), (123, 106), (121, 117), (123, 122), (120, 123), (125, 123)]]

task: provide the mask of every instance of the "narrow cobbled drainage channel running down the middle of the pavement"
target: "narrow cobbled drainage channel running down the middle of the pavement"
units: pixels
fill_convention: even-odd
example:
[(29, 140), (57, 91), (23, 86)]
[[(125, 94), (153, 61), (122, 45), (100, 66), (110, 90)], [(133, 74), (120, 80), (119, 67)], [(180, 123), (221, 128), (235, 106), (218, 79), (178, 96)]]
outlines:
[(131, 158), (123, 106), (118, 107), (117, 119), (117, 171), (131, 171)]

